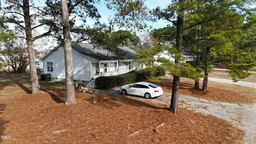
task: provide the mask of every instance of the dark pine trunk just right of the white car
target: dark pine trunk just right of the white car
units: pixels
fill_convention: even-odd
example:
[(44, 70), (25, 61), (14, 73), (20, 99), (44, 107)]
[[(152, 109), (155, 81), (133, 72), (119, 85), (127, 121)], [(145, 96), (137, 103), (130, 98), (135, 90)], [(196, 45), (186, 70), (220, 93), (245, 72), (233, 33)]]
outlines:
[[(184, 0), (180, 0), (180, 4), (183, 4)], [(176, 38), (176, 48), (181, 53), (182, 52), (182, 36), (183, 36), (183, 14), (184, 9), (181, 8), (180, 13), (178, 13), (177, 19), (177, 38)], [(180, 67), (180, 59), (176, 59), (175, 64)], [(180, 76), (175, 76), (173, 78), (173, 85), (172, 85), (172, 98), (170, 104), (170, 111), (174, 114), (178, 113), (178, 100), (179, 100), (179, 86), (180, 86)]]

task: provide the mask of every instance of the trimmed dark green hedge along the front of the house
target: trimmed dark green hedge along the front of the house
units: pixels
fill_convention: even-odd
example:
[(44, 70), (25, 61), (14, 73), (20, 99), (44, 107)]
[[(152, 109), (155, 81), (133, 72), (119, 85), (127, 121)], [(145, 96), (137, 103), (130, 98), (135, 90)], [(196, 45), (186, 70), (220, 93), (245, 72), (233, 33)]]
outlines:
[[(96, 88), (100, 89), (108, 89), (113, 88), (115, 86), (122, 86), (125, 84), (140, 82), (146, 80), (146, 70), (132, 71), (126, 74), (118, 75), (118, 76), (101, 76), (95, 79)], [(156, 76), (164, 76), (165, 69), (162, 67), (157, 68)]]

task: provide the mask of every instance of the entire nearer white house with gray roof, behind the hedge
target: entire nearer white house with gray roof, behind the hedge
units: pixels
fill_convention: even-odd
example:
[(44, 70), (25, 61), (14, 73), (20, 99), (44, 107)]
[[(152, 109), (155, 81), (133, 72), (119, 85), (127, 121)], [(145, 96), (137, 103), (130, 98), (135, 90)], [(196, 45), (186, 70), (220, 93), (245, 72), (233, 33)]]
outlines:
[[(135, 70), (138, 67), (138, 62), (132, 60), (135, 51), (128, 47), (120, 47), (120, 49), (127, 52), (123, 60), (116, 60), (113, 54), (102, 48), (94, 48), (92, 44), (72, 44), (74, 82), (82, 80), (86, 83), (92, 78), (114, 76)], [(44, 62), (44, 74), (50, 74), (50, 78), (56, 78), (56, 81), (65, 81), (63, 46), (57, 46), (40, 60)], [(145, 65), (139, 67), (145, 68)]]

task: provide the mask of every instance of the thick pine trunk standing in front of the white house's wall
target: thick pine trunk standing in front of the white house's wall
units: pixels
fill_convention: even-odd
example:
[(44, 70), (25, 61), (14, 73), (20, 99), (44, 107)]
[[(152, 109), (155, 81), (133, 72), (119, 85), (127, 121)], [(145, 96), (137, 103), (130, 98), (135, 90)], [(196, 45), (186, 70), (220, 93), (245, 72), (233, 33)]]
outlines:
[(64, 36), (64, 54), (66, 66), (66, 105), (76, 104), (76, 93), (74, 87), (74, 70), (72, 62), (72, 48), (70, 38), (69, 12), (67, 0), (61, 0), (63, 36)]

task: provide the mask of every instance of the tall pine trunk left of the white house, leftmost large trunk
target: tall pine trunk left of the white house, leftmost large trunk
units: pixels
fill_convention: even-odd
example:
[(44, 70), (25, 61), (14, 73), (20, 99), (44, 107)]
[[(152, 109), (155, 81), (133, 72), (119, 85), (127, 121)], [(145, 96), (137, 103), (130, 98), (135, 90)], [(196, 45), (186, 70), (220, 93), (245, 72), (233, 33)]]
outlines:
[(24, 20), (26, 26), (26, 42), (28, 46), (28, 58), (30, 64), (30, 77), (31, 77), (31, 84), (32, 84), (32, 94), (36, 94), (40, 92), (40, 85), (36, 73), (36, 61), (35, 61), (35, 54), (34, 54), (34, 39), (32, 36), (32, 28), (31, 28), (31, 19), (30, 19), (30, 5), (29, 0), (24, 0)]

